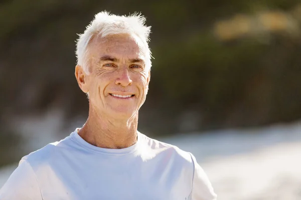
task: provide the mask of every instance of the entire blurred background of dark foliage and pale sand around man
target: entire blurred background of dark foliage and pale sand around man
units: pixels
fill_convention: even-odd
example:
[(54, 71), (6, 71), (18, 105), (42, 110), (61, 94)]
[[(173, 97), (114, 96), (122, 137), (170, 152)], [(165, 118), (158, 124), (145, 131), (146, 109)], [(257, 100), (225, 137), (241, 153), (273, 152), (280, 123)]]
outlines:
[(299, 0), (1, 0), (0, 187), (85, 122), (75, 40), (102, 10), (152, 26), (141, 132), (193, 152), (219, 200), (301, 199)]

